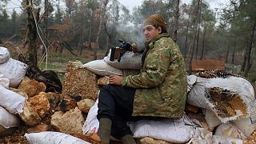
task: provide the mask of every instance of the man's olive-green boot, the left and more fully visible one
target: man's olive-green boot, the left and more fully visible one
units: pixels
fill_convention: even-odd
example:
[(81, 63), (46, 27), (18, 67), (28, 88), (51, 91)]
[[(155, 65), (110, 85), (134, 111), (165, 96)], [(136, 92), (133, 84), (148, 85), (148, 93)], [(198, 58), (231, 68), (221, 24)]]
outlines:
[(99, 120), (98, 136), (101, 138), (103, 144), (110, 143), (112, 121), (109, 118), (101, 118)]

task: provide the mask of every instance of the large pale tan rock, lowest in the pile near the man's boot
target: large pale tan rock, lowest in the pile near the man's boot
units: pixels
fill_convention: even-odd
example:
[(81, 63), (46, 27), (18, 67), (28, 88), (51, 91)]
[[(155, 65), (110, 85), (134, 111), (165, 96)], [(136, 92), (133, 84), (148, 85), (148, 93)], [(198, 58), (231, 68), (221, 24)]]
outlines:
[(51, 126), (62, 133), (66, 134), (82, 134), (82, 126), (85, 120), (82, 117), (82, 111), (76, 107), (67, 111), (65, 114), (62, 111), (55, 112), (50, 120)]

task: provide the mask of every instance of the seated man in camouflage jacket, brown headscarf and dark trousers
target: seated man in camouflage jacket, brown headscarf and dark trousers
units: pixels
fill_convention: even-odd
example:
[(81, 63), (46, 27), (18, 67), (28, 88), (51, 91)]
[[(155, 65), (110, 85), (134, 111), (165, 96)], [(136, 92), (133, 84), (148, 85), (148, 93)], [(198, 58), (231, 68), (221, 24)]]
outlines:
[(143, 24), (146, 50), (138, 75), (110, 75), (110, 85), (98, 96), (98, 136), (110, 134), (135, 143), (126, 122), (131, 118), (181, 118), (186, 104), (186, 66), (178, 46), (167, 34), (166, 22), (154, 14)]

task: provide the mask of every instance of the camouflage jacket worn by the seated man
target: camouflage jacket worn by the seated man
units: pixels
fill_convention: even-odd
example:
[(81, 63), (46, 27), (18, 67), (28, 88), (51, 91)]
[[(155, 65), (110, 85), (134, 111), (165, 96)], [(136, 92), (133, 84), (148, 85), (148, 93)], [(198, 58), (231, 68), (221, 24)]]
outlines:
[(186, 85), (184, 58), (166, 34), (150, 42), (141, 74), (122, 78), (122, 86), (136, 88), (133, 116), (181, 118)]

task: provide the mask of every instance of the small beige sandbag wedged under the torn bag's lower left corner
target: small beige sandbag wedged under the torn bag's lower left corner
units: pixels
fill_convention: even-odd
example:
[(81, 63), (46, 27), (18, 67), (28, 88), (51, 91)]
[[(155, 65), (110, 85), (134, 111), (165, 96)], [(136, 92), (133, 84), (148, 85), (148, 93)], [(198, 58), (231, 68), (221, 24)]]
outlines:
[(205, 119), (211, 131), (214, 130), (216, 126), (222, 124), (216, 114), (214, 114), (214, 112), (212, 112), (211, 110), (206, 109)]

